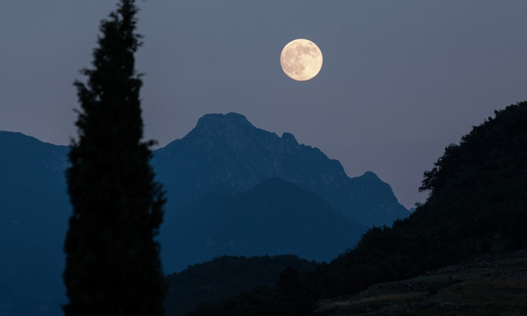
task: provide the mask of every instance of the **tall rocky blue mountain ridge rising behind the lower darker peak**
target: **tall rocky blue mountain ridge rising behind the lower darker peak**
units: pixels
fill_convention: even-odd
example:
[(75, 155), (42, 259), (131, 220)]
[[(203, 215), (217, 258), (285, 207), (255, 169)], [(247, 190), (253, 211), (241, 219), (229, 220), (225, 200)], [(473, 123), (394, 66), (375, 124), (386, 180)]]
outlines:
[(204, 115), (184, 138), (156, 150), (152, 165), (171, 188), (167, 207), (178, 211), (211, 191), (243, 192), (276, 177), (315, 192), (367, 227), (410, 214), (375, 173), (349, 178), (318, 148), (300, 145), (290, 133), (279, 137), (257, 129), (237, 113)]

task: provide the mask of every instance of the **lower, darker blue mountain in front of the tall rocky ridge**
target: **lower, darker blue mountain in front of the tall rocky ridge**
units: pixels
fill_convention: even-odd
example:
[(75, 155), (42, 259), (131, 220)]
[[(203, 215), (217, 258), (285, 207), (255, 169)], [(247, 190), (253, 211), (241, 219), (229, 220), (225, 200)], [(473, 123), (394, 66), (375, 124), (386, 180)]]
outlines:
[(168, 270), (221, 255), (295, 254), (330, 261), (366, 230), (322, 197), (280, 178), (238, 195), (204, 195), (167, 225), (161, 240)]

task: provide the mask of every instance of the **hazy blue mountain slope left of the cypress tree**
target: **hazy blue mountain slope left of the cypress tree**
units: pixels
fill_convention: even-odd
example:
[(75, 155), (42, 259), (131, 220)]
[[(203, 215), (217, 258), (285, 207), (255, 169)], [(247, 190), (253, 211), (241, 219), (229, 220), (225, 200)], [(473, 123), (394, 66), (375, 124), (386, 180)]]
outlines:
[(0, 315), (58, 315), (68, 147), (0, 131), (0, 148)]

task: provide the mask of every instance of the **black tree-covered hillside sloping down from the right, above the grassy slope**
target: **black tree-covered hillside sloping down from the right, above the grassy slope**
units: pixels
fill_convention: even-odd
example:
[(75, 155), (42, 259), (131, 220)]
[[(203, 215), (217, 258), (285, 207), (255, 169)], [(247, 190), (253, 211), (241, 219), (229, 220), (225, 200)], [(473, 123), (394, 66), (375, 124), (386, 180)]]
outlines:
[[(489, 252), (523, 248), (527, 242), (527, 102), (495, 111), (458, 145), (449, 145), (420, 190), (427, 202), (391, 228), (370, 228), (356, 247), (315, 272), (297, 277), (302, 302), (352, 294), (377, 282), (422, 274)], [(280, 287), (254, 289), (216, 307), (219, 315), (259, 314), (290, 305)], [(268, 301), (266, 301), (268, 300)], [(253, 302), (253, 303), (248, 303)], [(238, 304), (238, 305), (236, 305)], [(253, 306), (253, 309), (247, 305)], [(271, 307), (270, 307), (271, 306)], [(209, 308), (210, 310), (210, 308)], [(207, 315), (206, 309), (193, 315)], [(287, 312), (284, 313), (286, 315)], [(271, 314), (267, 314), (271, 315)], [(307, 315), (307, 314), (304, 314)]]

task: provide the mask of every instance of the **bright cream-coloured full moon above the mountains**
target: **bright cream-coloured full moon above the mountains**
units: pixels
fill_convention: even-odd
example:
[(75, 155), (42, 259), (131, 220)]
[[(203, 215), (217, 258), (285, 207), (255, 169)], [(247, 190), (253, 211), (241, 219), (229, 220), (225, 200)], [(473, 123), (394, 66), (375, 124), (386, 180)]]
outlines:
[(297, 81), (306, 81), (320, 72), (322, 52), (308, 39), (294, 39), (282, 49), (280, 65), (287, 76)]

